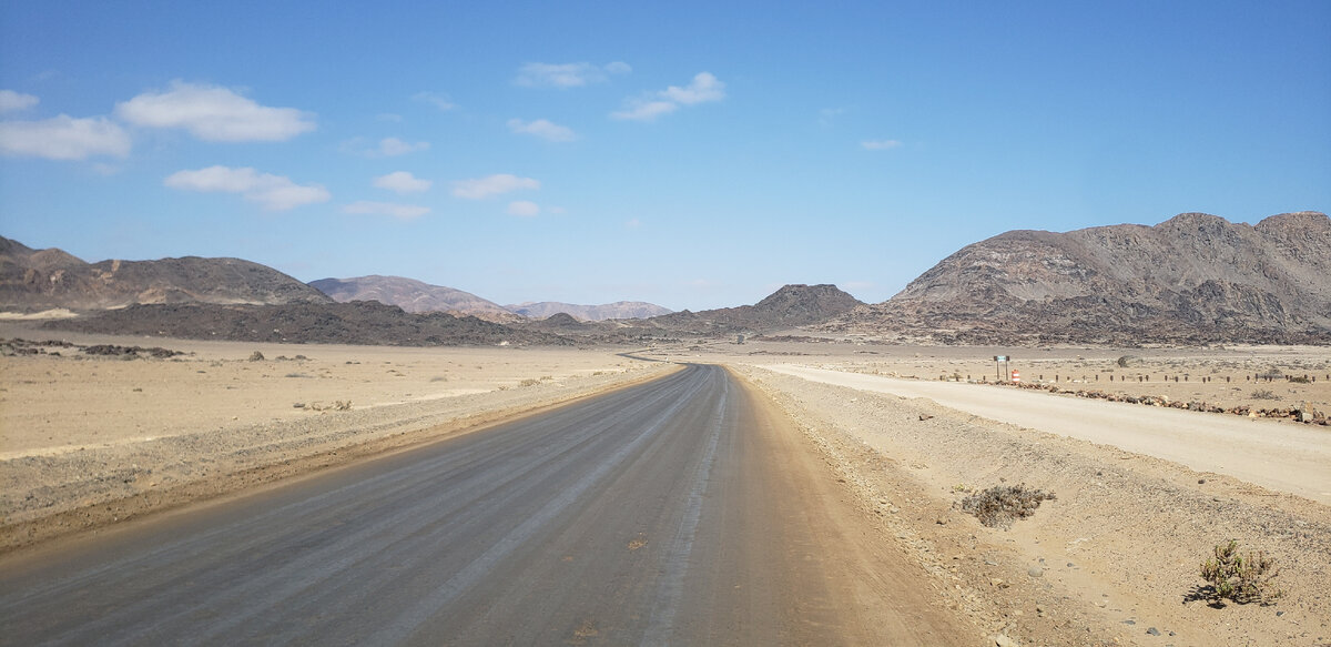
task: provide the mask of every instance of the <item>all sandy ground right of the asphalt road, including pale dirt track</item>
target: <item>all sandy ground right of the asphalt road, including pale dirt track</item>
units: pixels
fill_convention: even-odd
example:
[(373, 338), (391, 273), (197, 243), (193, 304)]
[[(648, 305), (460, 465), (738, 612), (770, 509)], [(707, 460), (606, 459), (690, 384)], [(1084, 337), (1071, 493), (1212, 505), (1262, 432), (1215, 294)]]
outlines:
[[(994, 636), (1024, 646), (1331, 644), (1331, 506), (1314, 501), (1324, 491), (1318, 483), (1327, 479), (1331, 462), (1303, 463), (1307, 457), (1299, 455), (1324, 455), (1331, 429), (938, 379), (978, 369), (993, 354), (1047, 353), (1040, 363), (1046, 379), (1057, 370), (1066, 381), (1082, 363), (1117, 365), (1127, 353), (1154, 353), (1141, 361), (1191, 371), (1194, 379), (1177, 386), (1173, 379), (1130, 382), (1142, 394), (1243, 402), (1256, 390), (1272, 389), (1284, 401), (1324, 406), (1323, 375), (1306, 385), (1239, 385), (1239, 373), (1227, 383), (1198, 383), (1195, 375), (1207, 366), (1278, 365), (1306, 367), (1311, 378), (1311, 370), (1326, 365), (1326, 349), (1044, 351), (751, 342), (656, 351), (724, 363), (764, 390), (804, 426), (865, 511), (882, 519), (884, 540), (909, 547), (912, 560), (936, 575), (937, 594)], [(807, 367), (792, 370), (792, 363)], [(992, 359), (988, 366), (993, 370)], [(1025, 377), (1030, 369), (1018, 370)], [(892, 374), (916, 379), (880, 377)], [(1101, 386), (1105, 382), (1102, 377)], [(906, 397), (882, 393), (889, 383)], [(994, 407), (993, 401), (1013, 395), (1055, 413), (1017, 423), (993, 419), (1012, 409)], [(1122, 410), (1129, 422), (1105, 429), (1089, 418), (1102, 407)], [(977, 415), (978, 410), (989, 415)], [(1178, 426), (1198, 437), (1171, 429), (1178, 435), (1153, 439), (1146, 433), (1143, 445), (1119, 446), (1126, 445), (1125, 433), (1169, 429), (1171, 421), (1183, 421)], [(1213, 430), (1230, 423), (1246, 427), (1244, 435)], [(1067, 426), (1082, 427), (1086, 437), (1067, 434)], [(1288, 450), (1284, 461), (1299, 465), (1311, 483), (1282, 481), (1280, 451), (1272, 450), (1278, 447)], [(1154, 455), (1182, 449), (1205, 461), (1203, 467), (1218, 469)], [(1271, 483), (1239, 478), (1250, 475), (1247, 463), (1256, 462), (1248, 450), (1275, 462), (1255, 470), (1274, 477)], [(985, 527), (961, 511), (968, 494), (1004, 483), (1026, 483), (1055, 493), (1057, 499), (1010, 530)], [(1217, 608), (1197, 596), (1205, 584), (1201, 562), (1229, 539), (1276, 559), (1275, 583), (1284, 594), (1274, 604)]]

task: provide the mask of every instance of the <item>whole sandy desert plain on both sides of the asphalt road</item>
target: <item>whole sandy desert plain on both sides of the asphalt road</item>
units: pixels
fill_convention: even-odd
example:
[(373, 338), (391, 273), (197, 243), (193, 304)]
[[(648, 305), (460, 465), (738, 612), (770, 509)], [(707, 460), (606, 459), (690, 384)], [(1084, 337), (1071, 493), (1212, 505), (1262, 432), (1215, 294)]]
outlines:
[[(679, 363), (716, 363), (801, 430), (864, 527), (900, 551), (902, 568), (925, 574), (940, 610), (969, 623), (976, 644), (1331, 642), (1331, 489), (1320, 485), (1331, 462), (1319, 462), (1331, 455), (1331, 427), (992, 383), (1016, 369), (1028, 385), (1071, 391), (1324, 414), (1324, 347), (775, 338), (418, 349), (79, 335), (24, 322), (4, 324), (0, 337), (11, 339), (0, 357), (0, 507), (11, 552), (469, 433)], [(144, 350), (84, 350), (97, 345)], [(173, 354), (153, 357), (154, 347)], [(1012, 358), (1004, 373), (994, 355)], [(948, 385), (960, 399), (908, 389), (925, 383)], [(1181, 462), (1169, 443), (1118, 442), (1115, 429), (1087, 438), (969, 410), (1004, 394), (1020, 394), (1024, 409), (1071, 411), (1062, 418), (1109, 406), (1143, 426), (1178, 419), (1174, 445), (1209, 462)], [(1252, 465), (1235, 446), (1207, 442), (1209, 427), (1231, 423), (1244, 425), (1244, 442), (1294, 447), (1307, 487), (1282, 486), (1290, 470), (1279, 461)], [(1055, 498), (1010, 529), (961, 510), (965, 497), (1001, 483)], [(1272, 604), (1201, 599), (1198, 564), (1230, 539), (1280, 564)]]

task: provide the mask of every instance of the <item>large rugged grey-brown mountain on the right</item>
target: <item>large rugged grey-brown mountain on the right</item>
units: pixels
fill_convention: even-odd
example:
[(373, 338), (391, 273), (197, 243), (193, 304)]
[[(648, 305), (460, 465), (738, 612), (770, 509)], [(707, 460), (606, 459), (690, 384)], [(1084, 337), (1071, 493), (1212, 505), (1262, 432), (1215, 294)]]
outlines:
[(1008, 232), (825, 330), (941, 342), (1331, 342), (1331, 218)]

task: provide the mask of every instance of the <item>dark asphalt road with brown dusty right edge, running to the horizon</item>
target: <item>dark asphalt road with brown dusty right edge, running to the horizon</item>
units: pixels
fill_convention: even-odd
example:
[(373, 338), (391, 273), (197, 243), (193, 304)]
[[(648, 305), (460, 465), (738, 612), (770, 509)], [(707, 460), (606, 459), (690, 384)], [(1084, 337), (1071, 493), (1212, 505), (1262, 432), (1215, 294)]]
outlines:
[(0, 643), (974, 643), (847, 497), (689, 366), (7, 555)]

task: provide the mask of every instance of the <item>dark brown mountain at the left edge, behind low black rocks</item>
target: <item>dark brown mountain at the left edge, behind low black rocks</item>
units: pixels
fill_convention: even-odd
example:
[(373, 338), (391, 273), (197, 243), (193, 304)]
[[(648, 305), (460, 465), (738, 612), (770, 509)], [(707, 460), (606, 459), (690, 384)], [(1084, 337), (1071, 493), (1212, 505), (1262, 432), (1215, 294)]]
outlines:
[(297, 304), (329, 301), (272, 268), (240, 258), (84, 262), (0, 237), (0, 308), (100, 310), (133, 304)]

